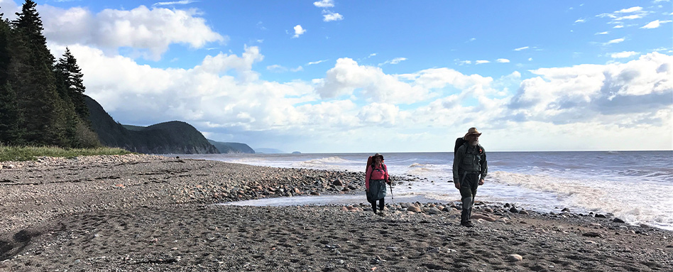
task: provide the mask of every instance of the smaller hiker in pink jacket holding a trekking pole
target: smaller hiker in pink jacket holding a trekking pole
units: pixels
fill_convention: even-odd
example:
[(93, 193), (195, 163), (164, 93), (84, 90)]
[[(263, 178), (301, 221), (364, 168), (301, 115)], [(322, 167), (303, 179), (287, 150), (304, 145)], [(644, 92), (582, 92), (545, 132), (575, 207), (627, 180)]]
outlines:
[[(378, 208), (381, 210), (379, 215), (383, 216), (385, 208), (385, 184), (390, 184), (390, 175), (388, 168), (383, 163), (383, 155), (376, 153), (367, 160), (367, 172), (365, 173), (365, 188), (367, 192), (367, 201), (371, 203), (371, 209), (376, 214), (376, 200)], [(392, 190), (392, 187), (390, 188)]]

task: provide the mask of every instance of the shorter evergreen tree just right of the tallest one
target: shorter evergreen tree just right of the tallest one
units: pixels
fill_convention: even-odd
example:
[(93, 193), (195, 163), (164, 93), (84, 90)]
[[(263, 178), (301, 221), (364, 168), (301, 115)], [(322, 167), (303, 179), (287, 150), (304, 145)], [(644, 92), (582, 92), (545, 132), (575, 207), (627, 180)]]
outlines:
[(64, 97), (64, 100), (72, 102), (77, 116), (82, 121), (89, 120), (89, 109), (87, 108), (87, 104), (84, 103), (84, 91), (86, 87), (84, 87), (84, 82), (82, 81), (82, 70), (77, 65), (77, 60), (70, 53), (69, 48), (65, 48), (65, 53), (63, 53), (62, 58), (56, 64), (56, 70), (60, 77), (58, 81), (62, 82), (60, 89), (64, 92), (65, 97), (68, 97), (67, 99)]

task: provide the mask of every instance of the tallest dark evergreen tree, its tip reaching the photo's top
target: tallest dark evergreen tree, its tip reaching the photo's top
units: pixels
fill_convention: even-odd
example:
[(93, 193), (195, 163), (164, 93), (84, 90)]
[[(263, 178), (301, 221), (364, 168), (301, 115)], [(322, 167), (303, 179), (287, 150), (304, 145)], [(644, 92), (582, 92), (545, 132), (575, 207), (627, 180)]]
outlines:
[(25, 139), (37, 145), (70, 146), (65, 138), (65, 102), (55, 85), (54, 57), (42, 35), (42, 20), (35, 2), (26, 0), (12, 21), (12, 58), (9, 81), (23, 110)]

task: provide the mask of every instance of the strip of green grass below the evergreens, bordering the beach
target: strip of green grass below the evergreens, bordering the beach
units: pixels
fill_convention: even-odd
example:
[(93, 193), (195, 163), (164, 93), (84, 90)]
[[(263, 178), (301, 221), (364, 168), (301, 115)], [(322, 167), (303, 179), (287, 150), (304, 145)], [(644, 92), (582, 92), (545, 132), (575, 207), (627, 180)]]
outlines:
[(55, 146), (4, 146), (0, 144), (0, 161), (35, 161), (37, 157), (65, 157), (93, 155), (124, 155), (131, 152), (121, 148), (60, 148)]

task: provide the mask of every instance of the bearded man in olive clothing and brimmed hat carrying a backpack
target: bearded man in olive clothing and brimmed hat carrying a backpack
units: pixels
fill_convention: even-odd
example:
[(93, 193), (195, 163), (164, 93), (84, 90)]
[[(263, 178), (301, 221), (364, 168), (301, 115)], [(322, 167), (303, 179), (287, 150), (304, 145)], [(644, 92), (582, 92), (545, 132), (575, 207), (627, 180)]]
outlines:
[(460, 190), (463, 210), (460, 214), (460, 224), (464, 227), (474, 227), (470, 217), (474, 197), (479, 185), (488, 173), (486, 151), (479, 144), (481, 133), (476, 128), (470, 128), (463, 138), (456, 139), (454, 147), (454, 185)]

